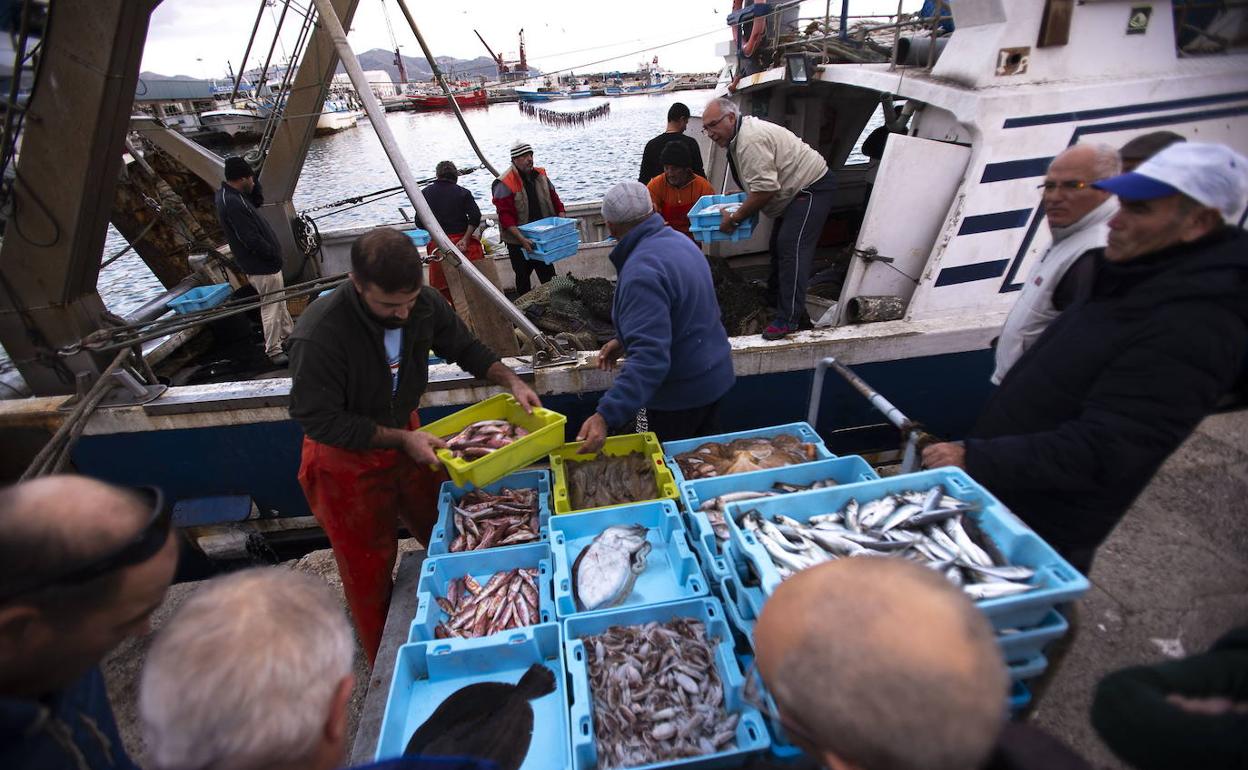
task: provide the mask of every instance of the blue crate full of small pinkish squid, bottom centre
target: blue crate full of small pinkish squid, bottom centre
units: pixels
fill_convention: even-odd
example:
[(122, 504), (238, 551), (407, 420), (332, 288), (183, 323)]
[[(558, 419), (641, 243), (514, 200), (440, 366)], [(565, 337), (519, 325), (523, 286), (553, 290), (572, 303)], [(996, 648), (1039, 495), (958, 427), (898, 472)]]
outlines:
[(740, 766), (768, 748), (716, 599), (575, 615), (563, 635), (575, 770)]

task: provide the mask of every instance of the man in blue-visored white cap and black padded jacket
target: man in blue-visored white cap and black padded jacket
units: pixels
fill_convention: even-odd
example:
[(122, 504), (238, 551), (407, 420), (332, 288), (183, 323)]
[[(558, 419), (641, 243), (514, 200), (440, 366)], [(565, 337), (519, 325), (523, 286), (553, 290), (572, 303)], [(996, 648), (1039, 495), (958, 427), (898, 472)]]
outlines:
[(934, 444), (1076, 568), (1231, 387), (1248, 348), (1248, 160), (1177, 144), (1096, 182), (1118, 196), (1082, 297), (992, 394), (966, 447)]

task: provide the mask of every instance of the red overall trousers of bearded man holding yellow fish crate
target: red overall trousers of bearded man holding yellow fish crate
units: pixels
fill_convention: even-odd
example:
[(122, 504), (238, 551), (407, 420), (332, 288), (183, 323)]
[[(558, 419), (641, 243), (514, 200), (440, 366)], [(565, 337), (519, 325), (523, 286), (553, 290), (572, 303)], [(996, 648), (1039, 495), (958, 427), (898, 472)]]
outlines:
[[(409, 428), (421, 421), (412, 412)], [(442, 470), (398, 449), (354, 452), (303, 437), (300, 485), (333, 547), (347, 607), (372, 666), (394, 587), (398, 522), (428, 544), (437, 523)]]

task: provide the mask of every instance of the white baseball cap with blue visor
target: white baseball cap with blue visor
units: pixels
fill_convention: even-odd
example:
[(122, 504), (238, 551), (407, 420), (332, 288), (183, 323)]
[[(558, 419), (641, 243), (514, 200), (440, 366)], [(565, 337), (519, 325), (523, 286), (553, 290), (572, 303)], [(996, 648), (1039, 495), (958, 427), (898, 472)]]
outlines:
[(1248, 205), (1248, 158), (1226, 145), (1179, 142), (1134, 171), (1092, 182), (1092, 186), (1123, 201), (1151, 201), (1182, 193), (1217, 208), (1229, 222)]

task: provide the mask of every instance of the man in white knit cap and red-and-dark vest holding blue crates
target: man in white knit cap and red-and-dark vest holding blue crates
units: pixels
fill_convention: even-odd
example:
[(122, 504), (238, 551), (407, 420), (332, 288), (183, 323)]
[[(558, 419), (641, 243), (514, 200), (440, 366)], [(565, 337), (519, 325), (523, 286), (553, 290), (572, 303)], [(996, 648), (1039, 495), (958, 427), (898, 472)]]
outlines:
[(554, 266), (529, 260), (524, 251), (533, 251), (533, 241), (524, 237), (520, 225), (528, 225), (547, 217), (564, 215), (563, 201), (545, 168), (533, 165), (533, 146), (517, 141), (512, 145), (512, 166), (498, 177), (493, 188), (494, 211), (498, 212), (498, 228), (507, 243), (507, 256), (512, 260), (515, 272), (515, 293), (527, 295), (533, 288), (529, 276), (537, 271), (543, 283), (554, 278)]

